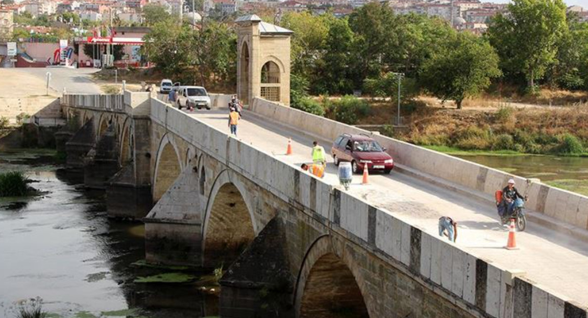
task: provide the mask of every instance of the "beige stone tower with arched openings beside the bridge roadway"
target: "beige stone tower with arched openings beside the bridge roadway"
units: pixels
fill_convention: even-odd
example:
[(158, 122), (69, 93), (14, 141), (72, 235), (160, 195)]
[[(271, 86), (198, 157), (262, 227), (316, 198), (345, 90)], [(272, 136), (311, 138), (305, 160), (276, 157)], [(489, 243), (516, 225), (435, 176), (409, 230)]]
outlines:
[(245, 104), (254, 97), (290, 104), (292, 31), (261, 21), (257, 15), (236, 19), (237, 93)]

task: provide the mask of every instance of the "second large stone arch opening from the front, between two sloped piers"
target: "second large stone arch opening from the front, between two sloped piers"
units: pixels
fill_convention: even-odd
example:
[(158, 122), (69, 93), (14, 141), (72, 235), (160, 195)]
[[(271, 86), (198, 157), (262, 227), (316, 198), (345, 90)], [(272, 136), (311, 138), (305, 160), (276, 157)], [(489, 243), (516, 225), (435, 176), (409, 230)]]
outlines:
[[(245, 187), (228, 170), (212, 185), (202, 231), (202, 265), (230, 265), (258, 233)], [(219, 253), (221, 252), (222, 253)]]

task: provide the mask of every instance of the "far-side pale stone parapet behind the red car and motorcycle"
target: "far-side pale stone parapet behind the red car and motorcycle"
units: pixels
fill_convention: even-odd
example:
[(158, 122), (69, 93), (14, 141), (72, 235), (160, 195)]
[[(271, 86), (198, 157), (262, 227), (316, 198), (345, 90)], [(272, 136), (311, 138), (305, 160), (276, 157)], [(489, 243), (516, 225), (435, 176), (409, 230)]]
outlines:
[[(487, 200), (494, 198), (496, 190), (502, 189), (509, 178), (515, 178), (517, 188), (529, 195), (527, 208), (558, 219), (567, 224), (588, 229), (588, 197), (550, 187), (541, 182), (529, 182), (526, 178), (452, 157), (390, 137), (373, 134), (347, 124), (339, 123), (305, 111), (281, 106), (267, 100), (255, 98), (250, 109), (268, 119), (279, 121), (305, 133), (335, 140), (342, 133), (368, 134), (377, 140), (392, 155), (396, 164), (407, 171), (429, 180), (440, 178), (456, 189), (467, 188), (469, 192)], [(570, 228), (570, 231), (574, 229)]]

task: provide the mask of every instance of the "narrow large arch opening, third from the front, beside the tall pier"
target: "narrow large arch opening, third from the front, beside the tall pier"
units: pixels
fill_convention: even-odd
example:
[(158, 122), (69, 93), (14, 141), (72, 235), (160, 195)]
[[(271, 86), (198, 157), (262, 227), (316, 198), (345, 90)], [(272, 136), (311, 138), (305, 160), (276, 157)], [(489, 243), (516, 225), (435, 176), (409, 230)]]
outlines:
[(182, 171), (178, 147), (166, 134), (159, 142), (159, 149), (153, 173), (153, 202), (159, 201), (165, 191), (173, 184)]

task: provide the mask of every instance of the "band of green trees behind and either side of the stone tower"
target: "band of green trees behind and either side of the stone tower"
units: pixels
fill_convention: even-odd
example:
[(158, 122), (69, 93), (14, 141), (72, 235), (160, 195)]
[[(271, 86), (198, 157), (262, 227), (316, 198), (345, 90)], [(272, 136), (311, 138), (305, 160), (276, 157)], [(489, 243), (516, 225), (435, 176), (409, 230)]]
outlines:
[[(288, 12), (280, 26), (295, 32), (292, 100), (355, 90), (391, 97), (397, 80), (402, 80), (403, 100), (426, 92), (455, 100), (458, 107), (497, 82), (526, 93), (545, 84), (588, 89), (588, 23), (566, 14), (562, 0), (513, 0), (507, 8), (489, 21), (482, 36), (458, 32), (436, 17), (397, 15), (377, 2), (344, 18)], [(208, 19), (193, 28), (161, 12), (150, 16), (145, 53), (163, 73), (234, 85), (232, 20)]]

